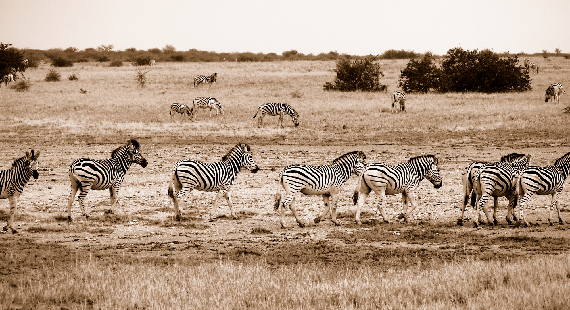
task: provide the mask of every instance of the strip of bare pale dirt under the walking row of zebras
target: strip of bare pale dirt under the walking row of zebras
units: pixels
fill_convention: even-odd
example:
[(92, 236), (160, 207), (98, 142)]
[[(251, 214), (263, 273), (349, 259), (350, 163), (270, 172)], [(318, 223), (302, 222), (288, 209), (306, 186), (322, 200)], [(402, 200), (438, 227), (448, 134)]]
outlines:
[[(40, 175), (37, 180), (30, 180), (26, 191), (18, 200), (18, 212), (38, 212), (38, 214), (67, 213), (70, 181), (67, 173), (71, 162), (75, 159), (88, 157), (106, 159), (111, 151), (119, 144), (43, 144), (32, 145), (27, 143), (0, 143), (0, 169), (10, 168), (13, 159), (22, 156), (26, 150), (34, 148), (41, 151)], [(277, 177), (282, 168), (289, 164), (328, 164), (345, 152), (362, 150), (368, 156), (367, 162), (381, 162), (398, 164), (410, 157), (421, 154), (437, 155), (443, 187), (434, 189), (429, 181), (422, 181), (418, 196), (418, 207), (412, 213), (414, 221), (426, 222), (457, 221), (461, 214), (463, 169), (474, 160), (496, 162), (500, 156), (519, 152), (531, 154), (531, 164), (534, 166), (548, 166), (570, 149), (568, 146), (553, 145), (551, 147), (513, 148), (493, 145), (465, 146), (465, 147), (415, 147), (405, 145), (363, 145), (363, 146), (286, 146), (286, 145), (251, 145), (253, 159), (262, 170), (250, 173), (242, 170), (230, 189), (234, 202), (234, 212), (239, 210), (253, 210), (258, 215), (241, 218), (237, 221), (229, 218), (219, 218), (207, 223), (207, 214), (203, 214), (204, 223), (211, 226), (207, 229), (182, 228), (181, 225), (162, 227), (154, 224), (157, 218), (166, 218), (174, 214), (172, 201), (166, 197), (171, 168), (181, 159), (195, 159), (211, 163), (221, 160), (222, 156), (231, 148), (231, 145), (222, 144), (143, 144), (142, 153), (148, 160), (146, 168), (133, 165), (125, 176), (119, 194), (119, 204), (116, 214), (140, 214), (144, 220), (133, 224), (112, 224), (113, 233), (62, 233), (40, 232), (34, 233), (26, 226), (34, 222), (16, 221), (18, 234), (3, 233), (0, 239), (34, 238), (38, 242), (55, 241), (69, 247), (78, 249), (96, 249), (109, 251), (109, 253), (131, 252), (146, 256), (165, 255), (218, 255), (224, 248), (255, 247), (259, 250), (279, 245), (281, 242), (308, 242), (331, 240), (335, 243), (351, 243), (354, 240), (332, 238), (332, 233), (345, 232), (351, 234), (357, 230), (368, 229), (366, 226), (356, 226), (352, 217), (341, 218), (340, 227), (333, 226), (331, 221), (322, 221), (314, 225), (313, 219), (323, 210), (323, 201), (320, 196), (299, 195), (296, 199), (299, 214), (304, 219), (306, 228), (299, 228), (295, 218), (287, 211), (286, 223), (288, 228), (281, 229), (279, 216), (274, 213), (273, 202)], [(271, 171), (275, 168), (275, 171)], [(346, 212), (354, 209), (352, 193), (357, 178), (352, 176), (346, 183), (343, 195), (339, 202), (337, 212)], [(568, 184), (568, 180), (567, 180)], [(283, 191), (283, 189), (281, 189)], [(194, 191), (185, 197), (182, 206), (185, 210), (209, 211), (210, 203), (215, 193)], [(380, 219), (376, 205), (376, 197), (368, 197), (364, 210), (376, 214), (370, 218)], [(507, 226), (504, 217), (507, 212), (507, 200), (499, 199), (498, 210), (499, 226), (489, 228), (484, 226), (479, 232), (489, 234), (511, 235), (526, 233), (531, 237), (569, 237), (570, 225), (548, 226), (548, 212), (545, 205), (550, 201), (549, 196), (538, 196), (531, 200), (532, 208), (526, 210), (527, 218), (534, 222), (530, 228), (514, 228)], [(568, 189), (565, 189), (560, 199), (561, 205), (568, 207), (570, 198)], [(0, 208), (8, 210), (8, 201), (1, 200)], [(102, 213), (105, 205), (109, 203), (108, 191), (91, 191), (87, 196), (88, 211), (92, 214)], [(167, 206), (171, 210), (163, 211)], [(229, 208), (222, 201), (222, 208), (215, 210), (217, 214), (229, 214)], [(397, 215), (402, 212), (401, 196), (388, 196), (385, 206), (388, 216), (396, 223), (401, 223), (398, 231), (405, 230), (409, 224), (398, 221)], [(77, 201), (72, 208), (74, 222), (84, 221)], [(471, 208), (466, 210), (467, 219), (474, 218)], [(556, 219), (557, 215), (554, 214)], [(570, 221), (568, 212), (562, 213), (563, 221)], [(367, 218), (367, 217), (364, 217)], [(454, 229), (473, 231), (473, 222), (465, 220), (465, 226), (455, 226)], [(0, 223), (5, 226), (5, 222)], [(251, 234), (255, 226), (262, 226), (273, 232), (272, 234)], [(359, 241), (370, 245), (381, 246), (441, 246), (439, 243), (425, 243), (422, 245), (409, 245), (405, 239), (401, 242)], [(282, 243), (281, 243), (282, 244)], [(347, 244), (348, 246), (348, 244)]]

